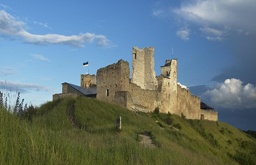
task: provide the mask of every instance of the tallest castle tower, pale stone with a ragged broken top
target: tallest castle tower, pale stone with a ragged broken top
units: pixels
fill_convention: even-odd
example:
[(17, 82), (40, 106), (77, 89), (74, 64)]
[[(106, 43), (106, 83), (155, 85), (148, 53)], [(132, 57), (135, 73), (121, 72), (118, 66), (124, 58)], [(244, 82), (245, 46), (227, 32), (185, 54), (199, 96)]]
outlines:
[(132, 79), (142, 89), (155, 90), (154, 48), (132, 47)]

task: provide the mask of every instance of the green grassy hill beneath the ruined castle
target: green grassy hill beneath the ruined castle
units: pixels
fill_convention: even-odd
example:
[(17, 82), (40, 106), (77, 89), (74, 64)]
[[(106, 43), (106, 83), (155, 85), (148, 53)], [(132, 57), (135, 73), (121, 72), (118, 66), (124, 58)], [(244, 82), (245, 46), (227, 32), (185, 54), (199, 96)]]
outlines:
[[(74, 103), (74, 114), (67, 113)], [(75, 117), (75, 124), (68, 116)], [(122, 117), (122, 129), (115, 128)], [(224, 122), (188, 120), (168, 114), (132, 113), (85, 97), (41, 105), (32, 120), (0, 108), (0, 164), (38, 165), (255, 165), (256, 140)], [(159, 121), (158, 123), (156, 122)], [(144, 147), (137, 134), (151, 136)]]

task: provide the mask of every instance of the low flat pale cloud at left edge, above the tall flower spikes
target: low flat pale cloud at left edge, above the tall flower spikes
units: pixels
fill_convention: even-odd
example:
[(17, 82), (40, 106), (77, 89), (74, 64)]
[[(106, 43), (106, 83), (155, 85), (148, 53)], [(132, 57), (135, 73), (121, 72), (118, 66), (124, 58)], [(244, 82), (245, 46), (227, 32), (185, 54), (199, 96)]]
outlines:
[(8, 89), (11, 91), (18, 91), (20, 93), (29, 93), (30, 91), (43, 91), (43, 92), (49, 92), (51, 91), (50, 88), (45, 87), (40, 84), (24, 84), (24, 83), (17, 83), (17, 82), (11, 82), (11, 81), (3, 81), (0, 80), (0, 84), (4, 86), (5, 89)]

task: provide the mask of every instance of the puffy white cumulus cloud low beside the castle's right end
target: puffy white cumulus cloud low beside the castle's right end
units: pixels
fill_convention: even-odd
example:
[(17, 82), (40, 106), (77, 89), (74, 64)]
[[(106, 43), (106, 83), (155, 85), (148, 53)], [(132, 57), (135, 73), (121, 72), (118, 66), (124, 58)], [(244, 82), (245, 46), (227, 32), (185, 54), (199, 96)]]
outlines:
[(222, 108), (256, 108), (256, 87), (250, 83), (243, 85), (239, 79), (226, 79), (214, 89), (207, 90), (202, 98)]

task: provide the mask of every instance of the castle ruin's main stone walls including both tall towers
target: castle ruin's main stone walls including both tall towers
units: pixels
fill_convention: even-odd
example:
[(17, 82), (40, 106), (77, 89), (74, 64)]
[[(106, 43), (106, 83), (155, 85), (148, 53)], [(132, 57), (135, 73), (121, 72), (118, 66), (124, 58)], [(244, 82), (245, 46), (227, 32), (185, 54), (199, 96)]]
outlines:
[(166, 60), (161, 74), (155, 76), (154, 48), (132, 48), (132, 73), (129, 63), (117, 63), (97, 70), (97, 99), (125, 106), (129, 110), (151, 112), (155, 107), (165, 113), (187, 118), (217, 121), (218, 112), (200, 109), (200, 98), (177, 84), (177, 59)]

